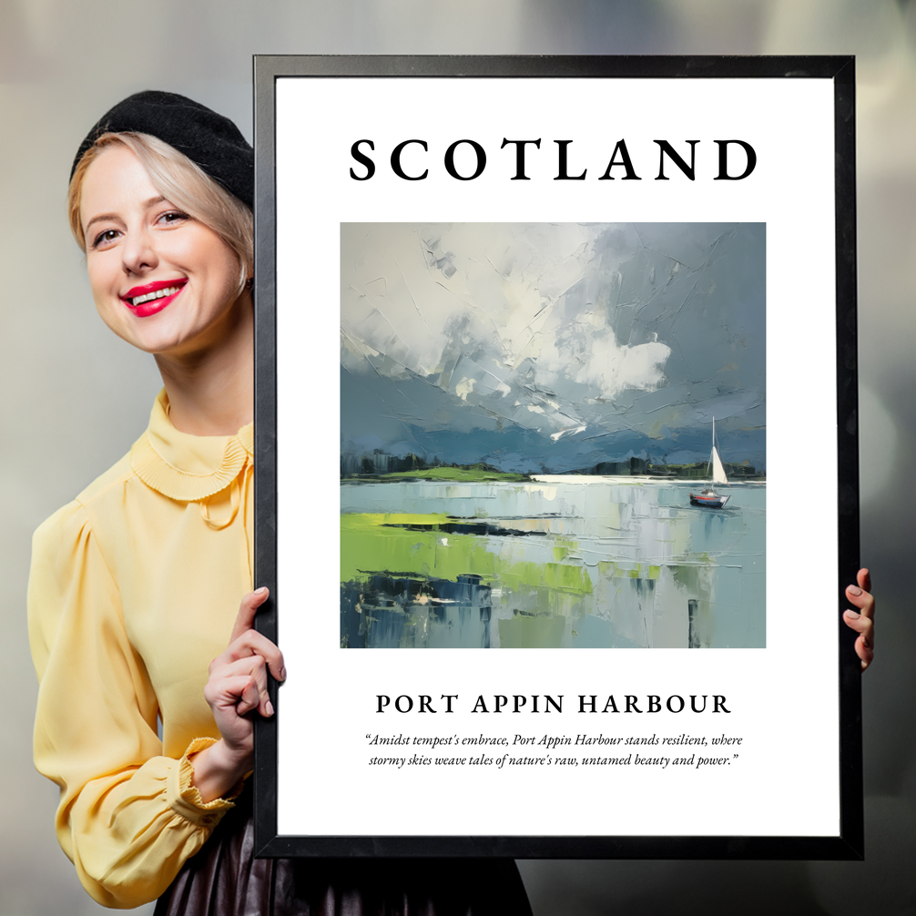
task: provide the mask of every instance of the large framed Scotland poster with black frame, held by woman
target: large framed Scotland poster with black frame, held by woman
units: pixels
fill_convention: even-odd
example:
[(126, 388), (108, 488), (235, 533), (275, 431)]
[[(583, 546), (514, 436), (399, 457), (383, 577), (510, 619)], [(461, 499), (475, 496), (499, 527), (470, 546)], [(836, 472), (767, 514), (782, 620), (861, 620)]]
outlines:
[(853, 61), (255, 70), (261, 854), (861, 856)]

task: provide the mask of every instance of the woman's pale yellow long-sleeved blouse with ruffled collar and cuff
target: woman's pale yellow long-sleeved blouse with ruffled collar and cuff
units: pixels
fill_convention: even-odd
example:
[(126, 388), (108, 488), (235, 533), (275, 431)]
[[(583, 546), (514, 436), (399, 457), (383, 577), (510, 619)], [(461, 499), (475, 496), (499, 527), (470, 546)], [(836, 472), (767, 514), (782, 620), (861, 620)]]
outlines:
[(191, 436), (168, 411), (163, 391), (130, 453), (32, 545), (35, 764), (108, 907), (155, 900), (232, 807), (202, 802), (188, 755), (219, 737), (203, 686), (251, 589), (253, 427)]

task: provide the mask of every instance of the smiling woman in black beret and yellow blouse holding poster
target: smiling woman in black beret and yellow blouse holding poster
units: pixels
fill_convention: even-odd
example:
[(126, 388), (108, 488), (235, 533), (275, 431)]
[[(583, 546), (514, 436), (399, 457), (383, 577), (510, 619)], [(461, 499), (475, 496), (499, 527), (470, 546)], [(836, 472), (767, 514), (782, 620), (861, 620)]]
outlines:
[(252, 715), (286, 676), (252, 628), (253, 178), (235, 125), (172, 93), (115, 105), (74, 161), (96, 308), (164, 387), (130, 453), (35, 535), (35, 759), (60, 845), (110, 907), (529, 913), (510, 860), (252, 859)]

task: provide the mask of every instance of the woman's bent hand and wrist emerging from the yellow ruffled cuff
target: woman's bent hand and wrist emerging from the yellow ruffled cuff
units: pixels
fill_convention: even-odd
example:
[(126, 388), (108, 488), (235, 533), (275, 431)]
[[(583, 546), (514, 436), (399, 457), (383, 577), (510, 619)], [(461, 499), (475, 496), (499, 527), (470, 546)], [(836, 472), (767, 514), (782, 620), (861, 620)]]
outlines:
[(193, 784), (204, 802), (220, 798), (252, 769), (255, 757), (254, 710), (274, 714), (267, 694), (267, 669), (286, 680), (283, 653), (254, 628), (257, 608), (267, 601), (266, 588), (242, 599), (229, 646), (210, 663), (203, 696), (213, 711), (222, 738), (191, 757)]

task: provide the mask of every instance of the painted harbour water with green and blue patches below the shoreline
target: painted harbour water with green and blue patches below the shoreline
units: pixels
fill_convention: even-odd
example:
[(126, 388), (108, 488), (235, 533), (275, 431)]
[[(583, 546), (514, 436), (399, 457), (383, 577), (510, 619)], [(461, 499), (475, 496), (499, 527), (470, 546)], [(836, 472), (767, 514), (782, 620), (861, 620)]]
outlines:
[(573, 480), (342, 484), (342, 646), (765, 645), (765, 485)]

